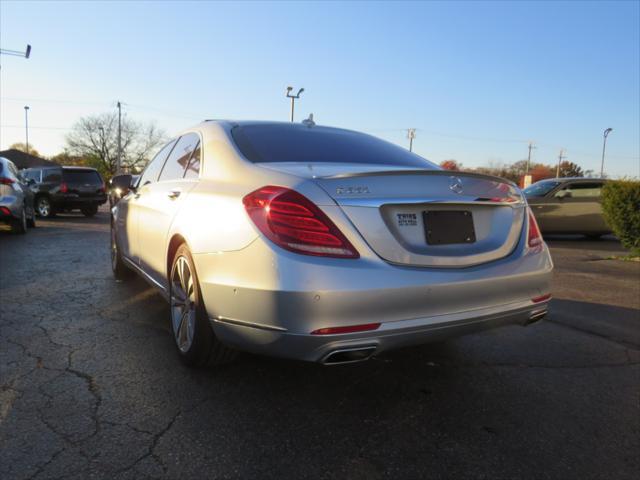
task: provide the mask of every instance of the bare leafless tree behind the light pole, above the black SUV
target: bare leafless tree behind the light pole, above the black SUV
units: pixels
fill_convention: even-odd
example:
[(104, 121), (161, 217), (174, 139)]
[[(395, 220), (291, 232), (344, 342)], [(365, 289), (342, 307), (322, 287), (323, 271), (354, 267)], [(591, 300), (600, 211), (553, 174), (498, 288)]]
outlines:
[[(155, 124), (122, 119), (122, 168), (137, 172), (162, 143), (165, 134)], [(66, 151), (84, 157), (107, 176), (116, 173), (118, 159), (118, 115), (102, 113), (83, 117), (66, 137)]]

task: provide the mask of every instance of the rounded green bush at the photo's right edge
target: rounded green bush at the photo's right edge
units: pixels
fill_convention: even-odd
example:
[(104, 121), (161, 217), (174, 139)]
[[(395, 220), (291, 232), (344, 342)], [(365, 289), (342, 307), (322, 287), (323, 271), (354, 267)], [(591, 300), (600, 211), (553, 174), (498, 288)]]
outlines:
[(622, 245), (640, 255), (640, 181), (607, 182), (602, 189), (602, 211)]

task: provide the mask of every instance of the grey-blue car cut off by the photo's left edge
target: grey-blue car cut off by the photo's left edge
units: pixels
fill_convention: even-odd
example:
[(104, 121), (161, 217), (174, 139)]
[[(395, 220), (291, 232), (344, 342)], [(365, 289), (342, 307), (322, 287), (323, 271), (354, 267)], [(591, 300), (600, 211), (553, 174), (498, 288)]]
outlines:
[(36, 226), (33, 192), (13, 162), (0, 157), (0, 222), (11, 225), (14, 233), (26, 233)]

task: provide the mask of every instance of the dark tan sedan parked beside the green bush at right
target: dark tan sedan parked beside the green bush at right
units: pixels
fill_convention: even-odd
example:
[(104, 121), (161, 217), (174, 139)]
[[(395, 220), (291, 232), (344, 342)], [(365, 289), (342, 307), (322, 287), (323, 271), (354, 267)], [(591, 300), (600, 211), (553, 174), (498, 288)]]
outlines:
[(525, 188), (524, 194), (542, 233), (597, 238), (611, 233), (600, 203), (605, 182), (596, 178), (551, 178)]

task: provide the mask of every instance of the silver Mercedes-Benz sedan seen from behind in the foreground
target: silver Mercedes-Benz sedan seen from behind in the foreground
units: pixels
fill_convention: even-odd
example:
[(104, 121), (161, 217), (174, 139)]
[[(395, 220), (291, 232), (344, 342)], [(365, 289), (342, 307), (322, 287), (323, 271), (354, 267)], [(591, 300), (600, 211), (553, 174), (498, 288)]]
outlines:
[(522, 192), (358, 132), (206, 121), (115, 177), (111, 254), (170, 302), (189, 365), (325, 364), (541, 319), (553, 264)]

